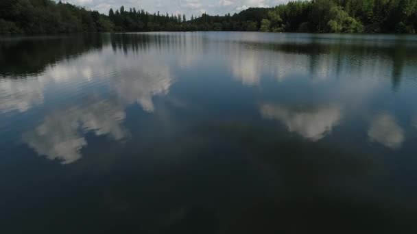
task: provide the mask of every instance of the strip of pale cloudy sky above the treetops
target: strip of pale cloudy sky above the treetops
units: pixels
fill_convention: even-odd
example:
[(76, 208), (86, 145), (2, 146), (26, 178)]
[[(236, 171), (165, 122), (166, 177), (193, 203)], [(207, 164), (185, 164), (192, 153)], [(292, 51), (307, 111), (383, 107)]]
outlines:
[[(58, 0), (56, 0), (58, 1)], [(136, 8), (148, 12), (161, 12), (169, 14), (186, 14), (187, 18), (193, 14), (200, 16), (206, 12), (211, 15), (224, 15), (240, 12), (250, 7), (267, 8), (287, 3), (289, 0), (66, 0), (74, 5), (81, 5), (91, 10), (98, 10), (108, 14), (108, 10)]]

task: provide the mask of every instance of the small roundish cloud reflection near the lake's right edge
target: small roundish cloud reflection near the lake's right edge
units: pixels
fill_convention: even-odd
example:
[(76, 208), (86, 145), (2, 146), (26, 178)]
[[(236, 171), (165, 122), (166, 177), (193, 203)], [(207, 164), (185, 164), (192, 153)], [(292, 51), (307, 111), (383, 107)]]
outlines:
[(371, 142), (378, 142), (388, 148), (399, 148), (405, 140), (404, 131), (390, 114), (375, 116), (368, 131)]

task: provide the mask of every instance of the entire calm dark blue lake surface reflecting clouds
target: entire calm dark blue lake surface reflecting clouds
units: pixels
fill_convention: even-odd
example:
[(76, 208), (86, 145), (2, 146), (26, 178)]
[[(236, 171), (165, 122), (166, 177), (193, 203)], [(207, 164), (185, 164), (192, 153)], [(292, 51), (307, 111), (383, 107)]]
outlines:
[(0, 233), (417, 233), (417, 37), (0, 39)]

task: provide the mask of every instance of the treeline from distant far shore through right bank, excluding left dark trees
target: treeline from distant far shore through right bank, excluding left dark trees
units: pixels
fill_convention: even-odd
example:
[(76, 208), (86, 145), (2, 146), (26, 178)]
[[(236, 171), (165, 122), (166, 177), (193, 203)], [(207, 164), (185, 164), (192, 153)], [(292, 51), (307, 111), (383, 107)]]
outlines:
[(289, 1), (225, 16), (169, 16), (121, 7), (110, 20), (116, 31), (273, 31), (407, 33), (417, 29), (417, 0)]

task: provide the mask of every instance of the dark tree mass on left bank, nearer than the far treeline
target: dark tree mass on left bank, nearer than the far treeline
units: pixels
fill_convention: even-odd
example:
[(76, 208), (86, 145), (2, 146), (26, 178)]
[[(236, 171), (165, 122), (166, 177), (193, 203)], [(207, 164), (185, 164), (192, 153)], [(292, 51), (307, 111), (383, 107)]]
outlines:
[(112, 31), (108, 16), (51, 0), (0, 0), (0, 33)]

